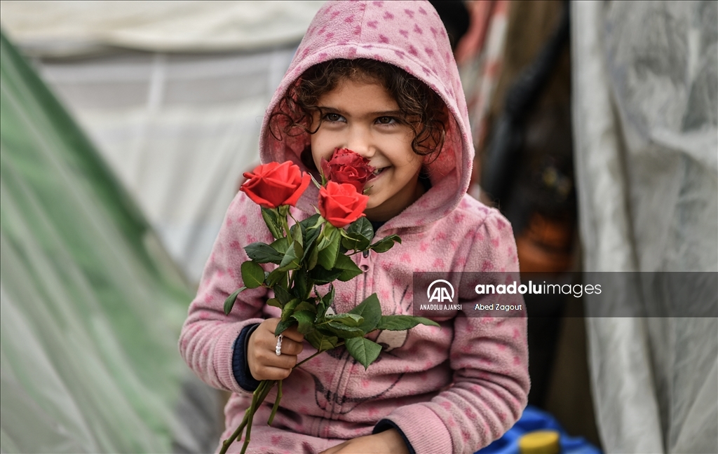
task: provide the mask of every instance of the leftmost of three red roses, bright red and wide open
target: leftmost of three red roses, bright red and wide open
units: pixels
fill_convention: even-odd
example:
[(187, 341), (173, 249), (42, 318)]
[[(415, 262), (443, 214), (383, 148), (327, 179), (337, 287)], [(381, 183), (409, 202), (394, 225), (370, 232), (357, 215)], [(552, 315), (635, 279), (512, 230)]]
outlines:
[(253, 171), (246, 172), (244, 177), (247, 181), (239, 190), (264, 208), (276, 208), (280, 205), (294, 207), (312, 179), (309, 174), (302, 174), (299, 166), (291, 161), (281, 164), (270, 162), (258, 166)]

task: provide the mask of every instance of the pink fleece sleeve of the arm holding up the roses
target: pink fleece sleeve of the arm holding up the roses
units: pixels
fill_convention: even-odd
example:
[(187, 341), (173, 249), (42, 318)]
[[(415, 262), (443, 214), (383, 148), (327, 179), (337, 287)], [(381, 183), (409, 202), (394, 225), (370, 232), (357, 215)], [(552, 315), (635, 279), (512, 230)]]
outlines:
[(224, 313), (224, 301), (243, 286), (241, 265), (248, 260), (244, 247), (256, 241), (271, 242), (271, 235), (260, 208), (239, 192), (225, 215), (180, 334), (180, 354), (190, 369), (210, 386), (231, 392), (248, 392), (233, 373), (233, 349), (243, 328), (264, 321), (268, 296), (263, 288), (244, 290), (229, 315)]

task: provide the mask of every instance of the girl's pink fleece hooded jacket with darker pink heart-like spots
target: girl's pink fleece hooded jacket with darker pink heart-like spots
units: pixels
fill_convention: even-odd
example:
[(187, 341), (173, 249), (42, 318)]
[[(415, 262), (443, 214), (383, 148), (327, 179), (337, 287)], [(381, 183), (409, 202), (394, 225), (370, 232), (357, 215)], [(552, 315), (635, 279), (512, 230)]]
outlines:
[[(292, 160), (309, 136), (269, 133), (273, 112), (287, 88), (312, 65), (335, 58), (370, 58), (403, 68), (429, 85), (453, 120), (439, 159), (427, 165), (432, 188), (376, 232), (403, 243), (382, 254), (355, 255), (365, 273), (335, 283), (335, 312), (348, 312), (376, 292), (385, 314), (412, 313), (415, 271), (518, 271), (510, 224), (466, 194), (473, 146), (467, 108), (449, 39), (426, 1), (329, 1), (299, 44), (271, 100), (261, 130), (262, 162)], [(295, 217), (314, 214), (317, 189), (310, 185)], [(230, 205), (197, 297), (182, 328), (180, 352), (199, 377), (233, 392), (225, 407), (223, 439), (241, 422), (251, 400), (233, 374), (233, 346), (246, 326), (278, 316), (267, 292), (245, 290), (229, 316), (225, 298), (241, 287), (243, 247), (271, 242), (259, 207), (242, 192)], [(269, 269), (269, 268), (268, 268)], [(463, 306), (480, 301), (473, 288)], [(254, 418), (249, 450), (314, 453), (369, 435), (380, 420), (404, 433), (417, 453), (473, 453), (500, 437), (518, 419), (528, 394), (526, 318), (472, 318), (456, 313), (441, 328), (417, 326), (383, 331), (379, 359), (365, 370), (342, 349), (321, 354), (284, 380), (281, 408), (266, 425), (275, 392)], [(375, 334), (376, 337), (376, 334)], [(307, 342), (299, 360), (314, 352)], [(269, 406), (269, 407), (268, 407)], [(241, 443), (230, 450), (238, 451)]]

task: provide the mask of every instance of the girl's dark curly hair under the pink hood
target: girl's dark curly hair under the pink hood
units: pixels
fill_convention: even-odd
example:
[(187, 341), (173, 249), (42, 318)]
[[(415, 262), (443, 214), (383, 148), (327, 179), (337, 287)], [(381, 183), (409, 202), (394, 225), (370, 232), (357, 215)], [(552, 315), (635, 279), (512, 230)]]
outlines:
[[(319, 99), (346, 79), (378, 82), (386, 88), (401, 112), (401, 118), (397, 120), (414, 133), (411, 149), (419, 156), (434, 154), (433, 159), (437, 159), (444, 146), (449, 117), (442, 98), (408, 72), (367, 58), (328, 60), (304, 71), (271, 113), (271, 135), (281, 141), (282, 133), (298, 136), (319, 131), (322, 126), (322, 109), (317, 105)], [(312, 129), (314, 113), (320, 113), (320, 121)]]

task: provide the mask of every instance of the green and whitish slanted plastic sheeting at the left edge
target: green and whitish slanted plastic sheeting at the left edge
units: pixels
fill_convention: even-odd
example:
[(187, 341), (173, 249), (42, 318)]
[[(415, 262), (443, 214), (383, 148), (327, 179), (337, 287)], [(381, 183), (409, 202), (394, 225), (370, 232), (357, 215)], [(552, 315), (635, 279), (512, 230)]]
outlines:
[(188, 286), (73, 120), (0, 44), (0, 450), (213, 450), (218, 394), (177, 352)]

